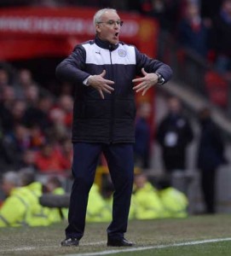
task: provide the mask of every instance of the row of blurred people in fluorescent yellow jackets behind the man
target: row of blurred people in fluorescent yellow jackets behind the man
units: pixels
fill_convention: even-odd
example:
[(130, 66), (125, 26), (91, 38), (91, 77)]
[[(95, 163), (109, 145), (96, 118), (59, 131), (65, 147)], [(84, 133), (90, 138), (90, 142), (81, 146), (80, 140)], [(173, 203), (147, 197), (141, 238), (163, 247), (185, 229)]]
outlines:
[[(7, 196), (0, 207), (0, 228), (20, 226), (48, 226), (67, 219), (66, 202), (50, 207), (40, 200), (42, 195), (65, 195), (59, 177), (50, 176), (45, 183), (36, 180), (32, 170), (5, 172), (2, 180)], [(54, 199), (51, 198), (51, 201)], [(56, 201), (57, 198), (55, 198)], [(66, 199), (68, 200), (68, 199)], [(44, 200), (43, 200), (44, 201)], [(86, 214), (87, 222), (108, 222), (112, 219), (113, 189), (102, 194), (94, 183)], [(188, 199), (181, 191), (170, 187), (167, 180), (156, 189), (144, 174), (136, 174), (130, 207), (130, 219), (185, 218), (188, 216)], [(17, 209), (17, 211), (12, 211)]]

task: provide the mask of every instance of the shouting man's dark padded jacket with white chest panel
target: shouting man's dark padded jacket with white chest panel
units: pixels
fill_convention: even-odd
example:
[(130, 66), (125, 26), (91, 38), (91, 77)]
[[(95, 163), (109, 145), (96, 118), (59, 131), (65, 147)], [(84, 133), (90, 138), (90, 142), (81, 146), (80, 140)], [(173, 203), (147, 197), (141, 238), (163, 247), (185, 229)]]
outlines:
[[(132, 79), (147, 73), (160, 73), (165, 81), (171, 69), (164, 63), (141, 54), (136, 47), (119, 42), (117, 45), (99, 38), (79, 44), (56, 67), (56, 76), (75, 85), (72, 142), (134, 143), (135, 92)], [(114, 81), (112, 94), (104, 93), (83, 84), (90, 75), (101, 74)], [(141, 75), (142, 76), (142, 75)]]

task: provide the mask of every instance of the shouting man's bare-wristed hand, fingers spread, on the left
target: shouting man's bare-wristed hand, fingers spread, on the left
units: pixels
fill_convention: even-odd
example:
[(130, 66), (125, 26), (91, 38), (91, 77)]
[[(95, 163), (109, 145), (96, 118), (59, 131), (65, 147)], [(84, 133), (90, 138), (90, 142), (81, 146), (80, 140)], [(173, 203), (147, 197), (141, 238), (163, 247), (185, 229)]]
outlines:
[(94, 87), (96, 90), (99, 91), (101, 98), (104, 99), (103, 91), (111, 94), (111, 92), (114, 90), (112, 86), (109, 86), (108, 84), (114, 84), (112, 80), (104, 79), (106, 71), (103, 70), (103, 72), (99, 75), (93, 75), (88, 79), (88, 84), (92, 87)]

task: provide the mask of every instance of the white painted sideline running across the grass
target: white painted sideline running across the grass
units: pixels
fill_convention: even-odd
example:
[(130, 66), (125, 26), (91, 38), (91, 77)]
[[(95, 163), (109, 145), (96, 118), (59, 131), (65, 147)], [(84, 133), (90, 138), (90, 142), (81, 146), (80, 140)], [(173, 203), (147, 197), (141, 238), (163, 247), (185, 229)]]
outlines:
[(211, 243), (211, 242), (218, 242), (218, 241), (231, 241), (231, 237), (227, 238), (218, 238), (218, 239), (208, 239), (202, 241), (187, 241), (181, 243), (173, 243), (173, 244), (166, 244), (166, 245), (157, 245), (157, 246), (150, 246), (150, 247), (135, 247), (135, 248), (126, 248), (126, 249), (118, 249), (118, 250), (110, 250), (110, 251), (101, 251), (95, 253), (75, 253), (75, 254), (66, 254), (65, 256), (96, 256), (96, 255), (110, 255), (110, 254), (117, 254), (117, 253), (129, 253), (129, 252), (138, 252), (138, 251), (146, 251), (151, 249), (161, 249), (167, 247), (182, 247), (182, 246), (192, 246), (204, 243)]

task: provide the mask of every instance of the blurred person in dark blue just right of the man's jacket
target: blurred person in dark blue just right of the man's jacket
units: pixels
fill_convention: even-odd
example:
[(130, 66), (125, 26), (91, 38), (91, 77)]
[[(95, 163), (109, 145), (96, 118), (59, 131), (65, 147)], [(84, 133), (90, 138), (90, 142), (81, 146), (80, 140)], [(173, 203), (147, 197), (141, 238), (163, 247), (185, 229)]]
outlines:
[(150, 166), (151, 149), (151, 105), (149, 102), (142, 102), (137, 110), (136, 119), (136, 143), (134, 145), (136, 166), (147, 169)]

